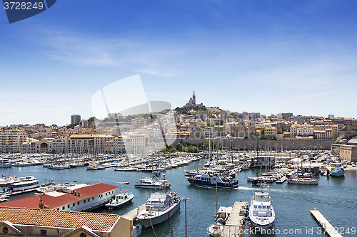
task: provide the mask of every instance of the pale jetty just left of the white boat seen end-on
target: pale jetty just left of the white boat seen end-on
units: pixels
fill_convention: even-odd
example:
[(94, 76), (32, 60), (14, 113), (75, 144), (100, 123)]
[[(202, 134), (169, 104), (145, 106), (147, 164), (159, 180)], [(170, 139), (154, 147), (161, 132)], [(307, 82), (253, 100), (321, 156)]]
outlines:
[(236, 201), (236, 203), (232, 206), (232, 211), (228, 217), (226, 225), (223, 226), (221, 237), (243, 237), (246, 228), (245, 220), (247, 211), (247, 202)]

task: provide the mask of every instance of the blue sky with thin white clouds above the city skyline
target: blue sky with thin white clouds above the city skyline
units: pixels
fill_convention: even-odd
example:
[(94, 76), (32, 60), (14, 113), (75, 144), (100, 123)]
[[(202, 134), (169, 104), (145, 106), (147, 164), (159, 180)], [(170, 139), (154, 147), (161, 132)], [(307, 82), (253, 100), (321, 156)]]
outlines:
[(357, 1), (60, 0), (0, 10), (0, 125), (65, 125), (139, 74), (146, 98), (232, 112), (357, 117)]

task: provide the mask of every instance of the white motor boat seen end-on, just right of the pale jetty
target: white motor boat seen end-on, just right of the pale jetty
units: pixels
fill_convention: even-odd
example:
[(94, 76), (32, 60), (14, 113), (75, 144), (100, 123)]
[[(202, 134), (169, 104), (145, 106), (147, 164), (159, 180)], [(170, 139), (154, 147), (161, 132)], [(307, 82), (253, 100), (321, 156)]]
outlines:
[(249, 219), (251, 225), (248, 226), (262, 234), (266, 233), (275, 221), (275, 211), (268, 193), (263, 193), (263, 191), (255, 193), (249, 206)]

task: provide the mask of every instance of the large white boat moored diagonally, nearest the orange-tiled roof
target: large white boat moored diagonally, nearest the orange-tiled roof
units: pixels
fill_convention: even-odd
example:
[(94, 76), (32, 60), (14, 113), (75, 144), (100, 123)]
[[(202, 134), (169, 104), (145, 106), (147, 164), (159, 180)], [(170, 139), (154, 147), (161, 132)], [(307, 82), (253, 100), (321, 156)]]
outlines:
[(145, 228), (169, 219), (180, 208), (181, 200), (176, 193), (151, 194), (146, 207), (136, 216)]

